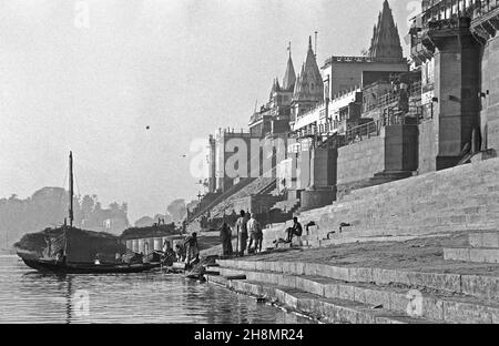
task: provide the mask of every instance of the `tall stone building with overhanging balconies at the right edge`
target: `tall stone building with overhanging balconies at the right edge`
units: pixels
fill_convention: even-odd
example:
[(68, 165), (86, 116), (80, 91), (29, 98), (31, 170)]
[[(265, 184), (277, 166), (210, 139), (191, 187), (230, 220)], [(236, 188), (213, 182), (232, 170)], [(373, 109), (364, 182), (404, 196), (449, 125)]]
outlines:
[(411, 58), (421, 71), (419, 172), (499, 149), (499, 1), (424, 0)]

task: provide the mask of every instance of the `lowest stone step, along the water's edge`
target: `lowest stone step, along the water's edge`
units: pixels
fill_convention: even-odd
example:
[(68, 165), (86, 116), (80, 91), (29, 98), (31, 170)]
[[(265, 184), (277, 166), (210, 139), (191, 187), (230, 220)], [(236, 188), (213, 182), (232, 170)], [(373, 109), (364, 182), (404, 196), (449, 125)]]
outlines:
[(385, 308), (373, 308), (368, 304), (326, 298), (303, 289), (269, 285), (256, 281), (227, 281), (221, 276), (208, 276), (208, 282), (226, 286), (238, 293), (265, 298), (286, 308), (333, 324), (435, 324), (437, 322), (396, 314)]

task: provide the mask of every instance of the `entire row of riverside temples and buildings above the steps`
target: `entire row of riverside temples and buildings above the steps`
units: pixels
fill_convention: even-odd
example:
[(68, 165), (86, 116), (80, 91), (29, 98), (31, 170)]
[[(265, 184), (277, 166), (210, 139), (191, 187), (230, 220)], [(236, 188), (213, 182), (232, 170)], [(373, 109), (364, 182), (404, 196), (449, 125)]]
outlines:
[[(296, 203), (303, 210), (320, 207), (355, 189), (467, 163), (477, 154), (495, 155), (498, 23), (499, 0), (425, 0), (410, 29), (410, 63), (388, 1), (364, 57), (333, 55), (319, 69), (310, 38), (299, 74), (289, 54), (283, 82), (274, 80), (249, 132), (211, 141), (212, 172), (226, 165), (228, 139), (284, 142), (284, 151), (272, 152), (266, 167), (251, 164), (262, 159), (261, 149), (244, 160), (258, 167), (261, 177), (275, 172), (275, 190), (285, 201), (272, 207), (273, 176), (256, 179), (249, 202), (240, 192), (237, 203), (218, 203), (217, 212), (234, 212), (235, 205), (261, 211), (255, 203), (271, 213), (294, 211)], [(217, 174), (211, 189), (226, 193), (234, 183)], [(265, 191), (265, 204), (259, 191)]]

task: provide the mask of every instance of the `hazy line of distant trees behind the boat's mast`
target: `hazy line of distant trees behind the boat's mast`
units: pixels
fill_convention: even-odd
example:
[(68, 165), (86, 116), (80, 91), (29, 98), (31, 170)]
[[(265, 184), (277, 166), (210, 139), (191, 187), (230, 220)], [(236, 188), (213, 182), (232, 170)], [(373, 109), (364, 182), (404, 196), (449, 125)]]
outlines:
[[(0, 199), (0, 248), (9, 248), (27, 233), (35, 233), (48, 227), (59, 227), (68, 217), (69, 193), (62, 187), (43, 187), (26, 200), (11, 195)], [(73, 226), (86, 231), (108, 232), (121, 235), (131, 227), (126, 203), (113, 202), (102, 206), (96, 195), (74, 196)], [(162, 225), (161, 235), (180, 232), (181, 223), (187, 215), (184, 200), (173, 201), (165, 214), (154, 217), (143, 216), (134, 223), (134, 228), (123, 233), (126, 237), (155, 234), (151, 228), (155, 223)], [(143, 230), (139, 230), (139, 228)], [(160, 235), (160, 234), (157, 234)]]

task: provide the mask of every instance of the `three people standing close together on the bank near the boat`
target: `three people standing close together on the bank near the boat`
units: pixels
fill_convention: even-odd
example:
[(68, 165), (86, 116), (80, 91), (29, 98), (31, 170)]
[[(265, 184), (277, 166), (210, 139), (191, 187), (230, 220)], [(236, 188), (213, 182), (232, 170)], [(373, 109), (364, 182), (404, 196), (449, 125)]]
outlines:
[[(244, 256), (245, 252), (258, 253), (262, 252), (263, 231), (261, 223), (256, 220), (255, 214), (241, 211), (240, 218), (235, 223), (235, 231), (237, 232), (237, 243), (235, 253)], [(224, 222), (221, 230), (222, 247), (224, 256), (232, 256), (234, 250), (232, 246), (232, 230)], [(253, 247), (254, 246), (254, 247)]]

